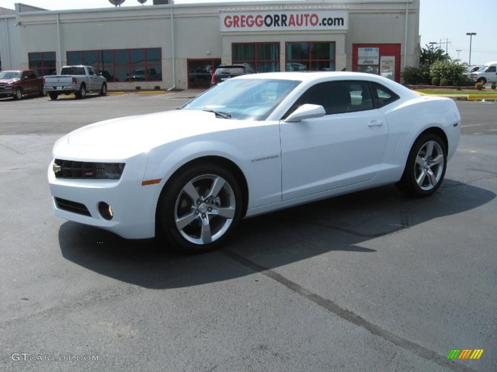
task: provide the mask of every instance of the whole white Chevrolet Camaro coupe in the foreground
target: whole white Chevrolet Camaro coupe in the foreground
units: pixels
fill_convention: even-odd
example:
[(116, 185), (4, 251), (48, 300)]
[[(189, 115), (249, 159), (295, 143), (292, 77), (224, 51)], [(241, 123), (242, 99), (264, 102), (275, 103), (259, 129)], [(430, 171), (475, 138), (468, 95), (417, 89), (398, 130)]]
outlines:
[(460, 130), (454, 101), (380, 76), (251, 74), (63, 136), (48, 181), (60, 217), (201, 252), (244, 217), (392, 183), (431, 195)]

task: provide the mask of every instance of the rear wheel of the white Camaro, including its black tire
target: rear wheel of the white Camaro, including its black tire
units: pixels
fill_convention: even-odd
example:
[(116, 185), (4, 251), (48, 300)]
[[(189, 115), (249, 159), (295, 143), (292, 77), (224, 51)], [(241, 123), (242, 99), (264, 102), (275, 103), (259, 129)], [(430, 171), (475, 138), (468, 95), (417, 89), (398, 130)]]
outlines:
[(436, 134), (422, 134), (414, 142), (404, 174), (396, 186), (410, 196), (430, 196), (442, 183), (446, 168), (445, 143)]

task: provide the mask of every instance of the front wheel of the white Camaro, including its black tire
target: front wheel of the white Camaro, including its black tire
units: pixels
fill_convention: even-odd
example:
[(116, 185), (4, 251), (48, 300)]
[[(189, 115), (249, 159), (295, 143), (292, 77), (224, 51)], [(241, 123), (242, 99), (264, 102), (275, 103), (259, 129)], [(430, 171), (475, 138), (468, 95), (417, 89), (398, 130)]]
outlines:
[(157, 207), (157, 235), (182, 252), (212, 250), (235, 229), (242, 204), (240, 185), (228, 170), (213, 163), (192, 165), (173, 176), (163, 189)]

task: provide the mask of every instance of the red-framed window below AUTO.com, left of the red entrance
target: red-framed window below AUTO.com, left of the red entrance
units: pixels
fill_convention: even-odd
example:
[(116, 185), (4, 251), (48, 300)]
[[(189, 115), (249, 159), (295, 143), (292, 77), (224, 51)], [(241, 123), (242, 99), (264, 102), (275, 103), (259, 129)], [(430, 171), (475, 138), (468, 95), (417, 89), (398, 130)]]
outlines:
[(334, 71), (334, 42), (286, 43), (286, 71)]

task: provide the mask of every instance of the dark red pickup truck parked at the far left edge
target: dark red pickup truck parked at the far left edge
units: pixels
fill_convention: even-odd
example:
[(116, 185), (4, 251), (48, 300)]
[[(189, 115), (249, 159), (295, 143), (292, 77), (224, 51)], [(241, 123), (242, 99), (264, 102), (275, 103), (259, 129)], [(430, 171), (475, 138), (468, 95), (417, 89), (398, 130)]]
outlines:
[(38, 93), (44, 95), (43, 78), (36, 77), (31, 70), (0, 71), (0, 98), (14, 97), (20, 100), (23, 94)]

